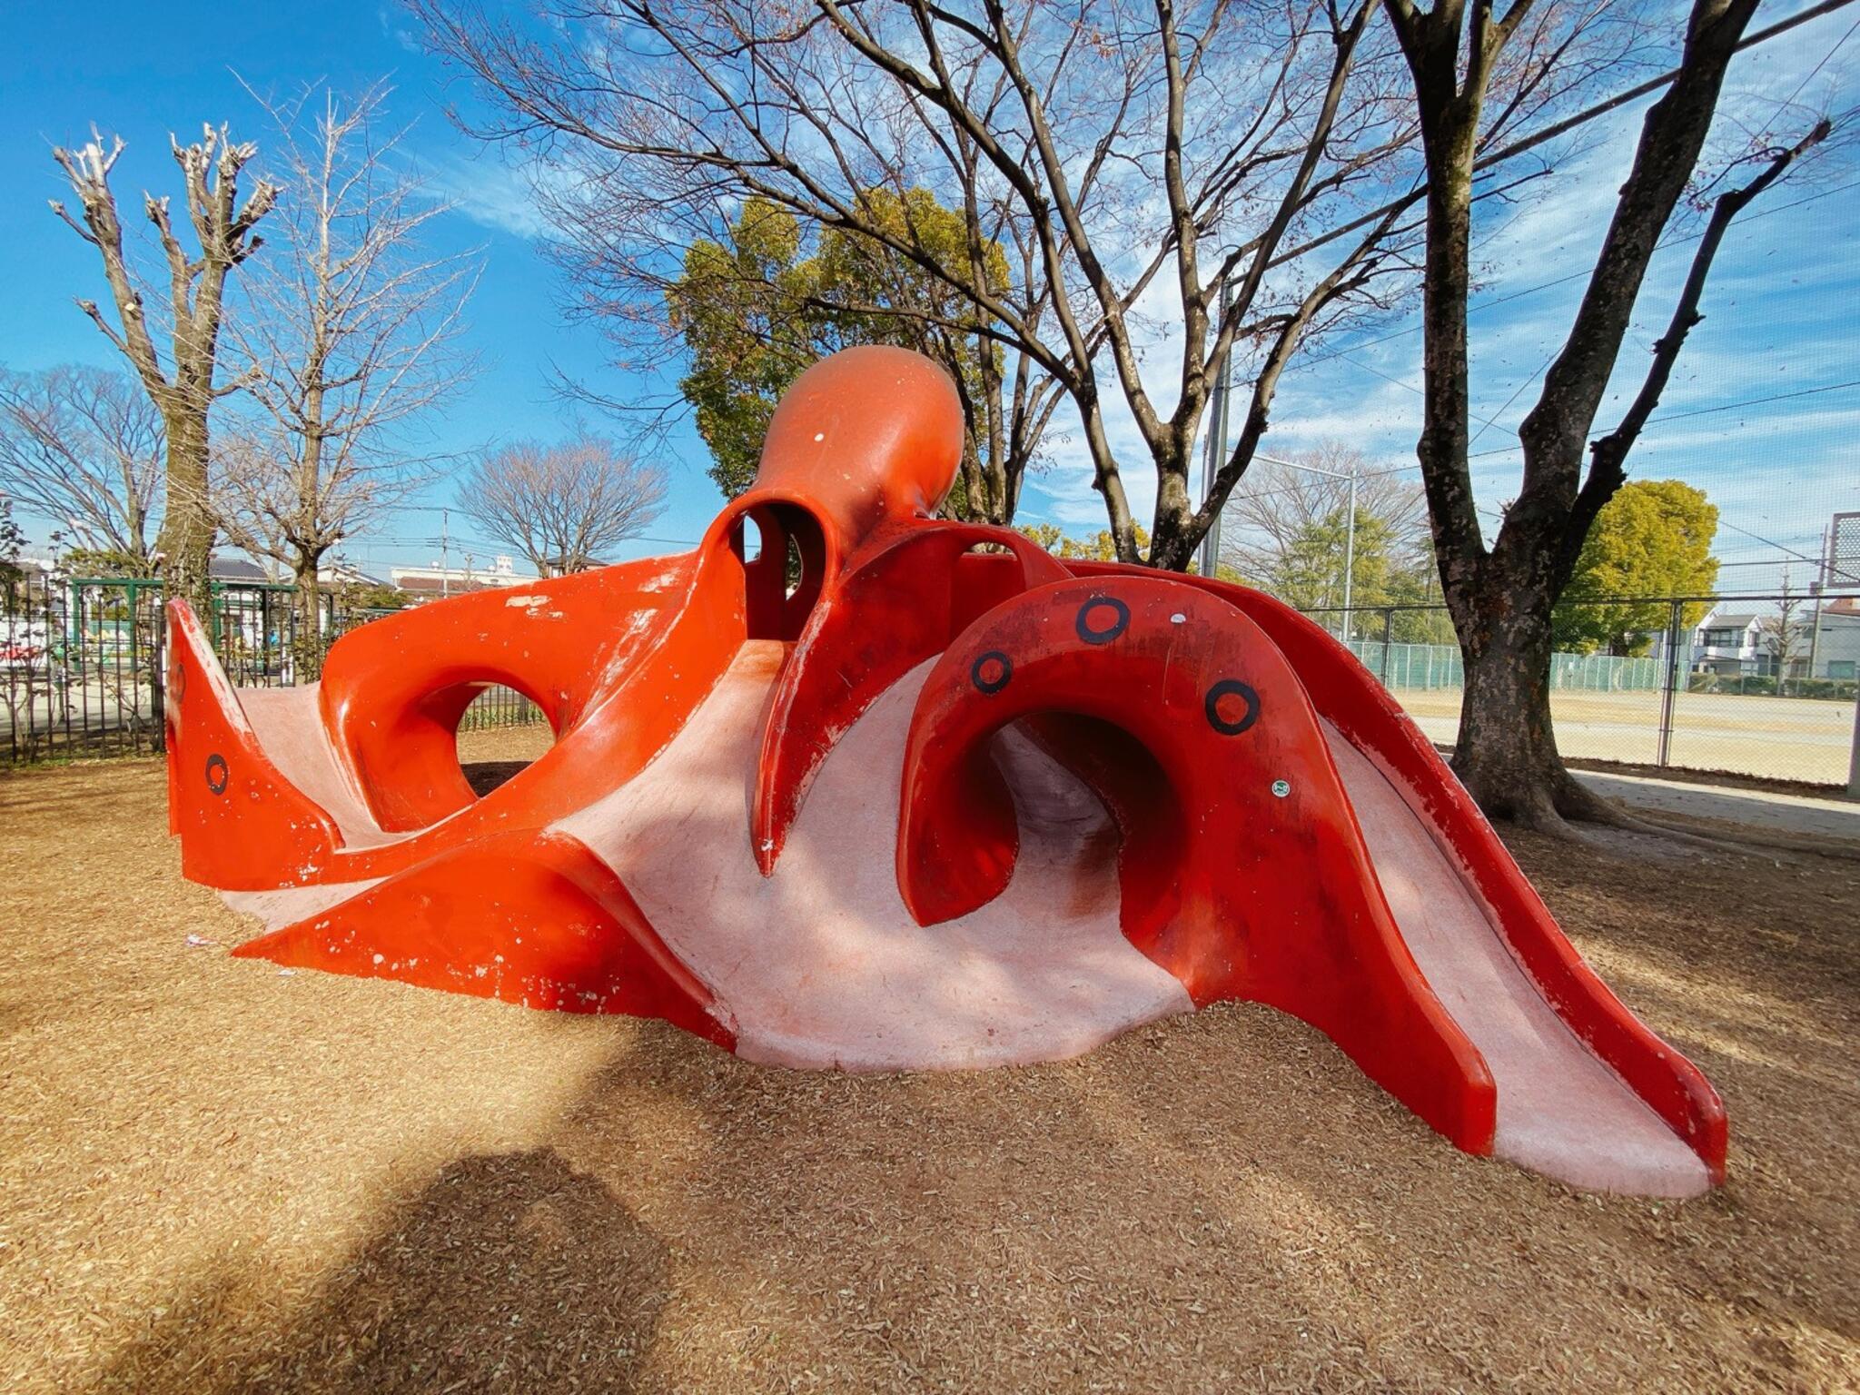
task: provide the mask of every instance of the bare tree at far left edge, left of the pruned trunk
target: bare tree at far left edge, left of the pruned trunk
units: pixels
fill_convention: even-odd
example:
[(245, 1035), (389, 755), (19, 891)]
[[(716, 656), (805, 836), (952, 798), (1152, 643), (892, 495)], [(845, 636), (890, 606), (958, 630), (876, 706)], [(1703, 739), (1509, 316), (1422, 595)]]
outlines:
[(86, 552), (154, 575), (162, 415), (104, 368), (0, 372), (0, 489)]

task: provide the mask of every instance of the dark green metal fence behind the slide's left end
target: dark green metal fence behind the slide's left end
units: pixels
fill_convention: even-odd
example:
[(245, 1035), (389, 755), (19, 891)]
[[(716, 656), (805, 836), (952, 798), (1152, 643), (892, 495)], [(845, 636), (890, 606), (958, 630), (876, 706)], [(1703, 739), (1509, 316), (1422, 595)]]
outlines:
[[(214, 584), (206, 629), (240, 688), (296, 683), (288, 586)], [(316, 644), (391, 614), (324, 599)], [(0, 753), (7, 764), (162, 750), (162, 582), (143, 577), (0, 578)], [(541, 712), (487, 688), (459, 729), (528, 725)]]

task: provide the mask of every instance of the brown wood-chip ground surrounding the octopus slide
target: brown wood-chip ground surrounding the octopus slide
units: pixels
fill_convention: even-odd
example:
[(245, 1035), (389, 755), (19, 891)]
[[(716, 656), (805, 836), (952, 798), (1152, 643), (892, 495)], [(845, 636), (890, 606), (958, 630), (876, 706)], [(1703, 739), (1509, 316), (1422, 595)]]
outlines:
[(231, 960), (162, 798), (0, 777), (0, 1388), (1860, 1388), (1856, 861), (1518, 843), (1728, 1101), (1730, 1183), (1654, 1203), (1257, 1006), (844, 1077)]

